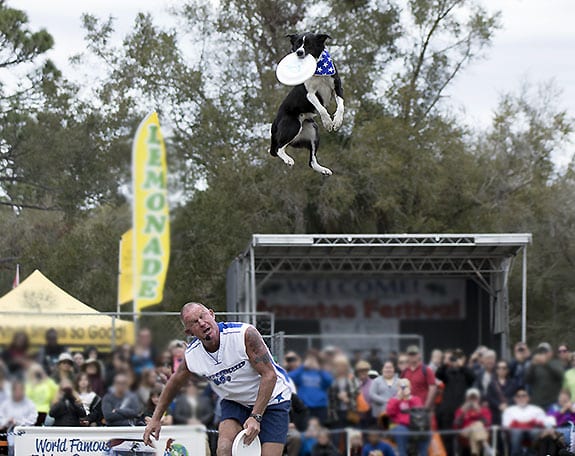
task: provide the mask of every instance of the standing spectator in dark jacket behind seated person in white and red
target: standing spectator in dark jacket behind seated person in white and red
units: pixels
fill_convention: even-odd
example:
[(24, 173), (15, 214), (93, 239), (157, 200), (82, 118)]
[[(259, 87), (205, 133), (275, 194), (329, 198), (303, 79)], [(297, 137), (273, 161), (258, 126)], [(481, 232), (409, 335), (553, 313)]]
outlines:
[(553, 358), (553, 349), (547, 342), (537, 346), (531, 365), (525, 372), (525, 383), (529, 388), (531, 403), (547, 410), (559, 396), (565, 371), (561, 363)]

